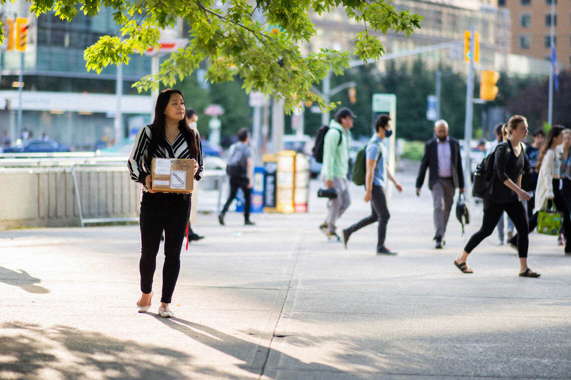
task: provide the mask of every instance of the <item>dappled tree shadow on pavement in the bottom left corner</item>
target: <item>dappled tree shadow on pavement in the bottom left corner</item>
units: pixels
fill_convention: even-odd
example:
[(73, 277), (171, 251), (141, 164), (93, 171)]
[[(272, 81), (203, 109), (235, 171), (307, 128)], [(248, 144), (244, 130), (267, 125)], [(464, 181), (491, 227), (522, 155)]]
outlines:
[(160, 379), (187, 378), (186, 353), (142, 345), (70, 326), (6, 322), (0, 333), (0, 378)]

